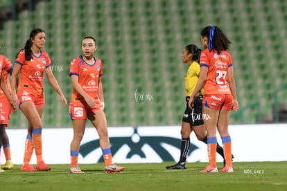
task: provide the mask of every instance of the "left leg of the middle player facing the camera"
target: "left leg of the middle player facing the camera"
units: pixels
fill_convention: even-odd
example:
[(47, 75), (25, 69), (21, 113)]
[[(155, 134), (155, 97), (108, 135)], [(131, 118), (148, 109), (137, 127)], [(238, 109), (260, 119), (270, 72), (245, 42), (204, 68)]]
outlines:
[(73, 139), (71, 141), (71, 168), (70, 173), (85, 173), (78, 167), (78, 156), (80, 150), (80, 142), (85, 133), (86, 120), (72, 120), (73, 124)]

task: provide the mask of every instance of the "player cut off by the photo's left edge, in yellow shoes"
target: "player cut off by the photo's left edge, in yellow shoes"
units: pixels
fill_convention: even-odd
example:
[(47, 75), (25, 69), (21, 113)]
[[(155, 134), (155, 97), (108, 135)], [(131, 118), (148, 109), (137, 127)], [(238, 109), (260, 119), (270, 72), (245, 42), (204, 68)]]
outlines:
[[(1, 41), (0, 41), (0, 50), (1, 50)], [(11, 61), (4, 55), (0, 55), (0, 63), (2, 64), (2, 69), (3, 69), (3, 75), (5, 78), (5, 82), (8, 87), (9, 93), (11, 93), (11, 87), (10, 87), (10, 82), (8, 75), (12, 74), (13, 71), (13, 65)], [(6, 127), (8, 127), (9, 119), (10, 119), (10, 114), (12, 112), (12, 108), (10, 106), (10, 103), (8, 99), (6, 98), (5, 94), (3, 91), (0, 89), (0, 105), (2, 107), (1, 111), (1, 122), (0, 122), (0, 149), (1, 145), (3, 146), (3, 152), (6, 157), (6, 163), (2, 166), (3, 170), (11, 170), (14, 165), (12, 164), (11, 161), (11, 154), (10, 154), (10, 143), (9, 143), (9, 138), (6, 133)]]

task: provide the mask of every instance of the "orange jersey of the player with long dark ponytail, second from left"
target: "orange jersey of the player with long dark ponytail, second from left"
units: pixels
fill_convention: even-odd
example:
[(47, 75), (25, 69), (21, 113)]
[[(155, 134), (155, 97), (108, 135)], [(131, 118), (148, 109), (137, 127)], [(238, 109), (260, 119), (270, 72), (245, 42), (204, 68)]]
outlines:
[(44, 93), (44, 71), (51, 66), (49, 55), (42, 50), (40, 53), (39, 57), (33, 54), (33, 60), (27, 61), (25, 59), (25, 51), (23, 50), (19, 53), (16, 60), (16, 64), (21, 65), (18, 90), (26, 91), (35, 96)]

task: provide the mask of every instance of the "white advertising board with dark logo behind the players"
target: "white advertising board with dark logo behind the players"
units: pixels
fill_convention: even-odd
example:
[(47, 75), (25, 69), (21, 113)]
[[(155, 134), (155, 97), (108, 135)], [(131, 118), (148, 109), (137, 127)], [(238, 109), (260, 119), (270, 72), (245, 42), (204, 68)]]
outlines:
[[(180, 158), (180, 126), (109, 127), (114, 163), (161, 163)], [(234, 162), (287, 161), (287, 153), (281, 148), (285, 143), (287, 124), (230, 125)], [(12, 162), (22, 164), (26, 129), (7, 129), (10, 138)], [(70, 163), (71, 128), (43, 129), (43, 158), (47, 164)], [(218, 143), (221, 139), (218, 134)], [(191, 134), (191, 150), (188, 162), (207, 162), (207, 146)], [(220, 155), (217, 161), (223, 161)], [(88, 127), (80, 146), (79, 163), (103, 162), (96, 129)], [(5, 163), (3, 149), (0, 163)], [(35, 152), (32, 164), (36, 163)]]

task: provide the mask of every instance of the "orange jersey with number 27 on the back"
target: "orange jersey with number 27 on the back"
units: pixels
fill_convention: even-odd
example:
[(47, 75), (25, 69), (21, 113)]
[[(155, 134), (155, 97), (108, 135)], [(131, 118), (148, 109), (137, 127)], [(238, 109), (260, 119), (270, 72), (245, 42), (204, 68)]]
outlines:
[(231, 94), (227, 78), (227, 69), (232, 67), (232, 58), (227, 51), (220, 54), (209, 49), (200, 55), (200, 67), (208, 68), (207, 81), (204, 84), (205, 94)]

